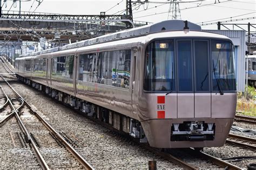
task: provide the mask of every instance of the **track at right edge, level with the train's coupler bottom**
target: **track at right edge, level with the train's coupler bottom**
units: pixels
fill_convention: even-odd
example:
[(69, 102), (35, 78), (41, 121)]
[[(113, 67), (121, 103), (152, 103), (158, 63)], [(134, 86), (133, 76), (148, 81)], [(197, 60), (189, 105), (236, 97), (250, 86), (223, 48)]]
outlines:
[(229, 134), (226, 143), (256, 151), (255, 138), (248, 138), (236, 134)]

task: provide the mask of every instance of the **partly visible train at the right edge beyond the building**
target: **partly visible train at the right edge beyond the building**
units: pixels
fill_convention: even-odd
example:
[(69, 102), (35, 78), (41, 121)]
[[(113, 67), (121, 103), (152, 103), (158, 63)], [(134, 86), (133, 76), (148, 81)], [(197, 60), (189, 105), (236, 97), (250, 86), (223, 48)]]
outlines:
[(256, 87), (256, 55), (248, 55), (248, 84)]

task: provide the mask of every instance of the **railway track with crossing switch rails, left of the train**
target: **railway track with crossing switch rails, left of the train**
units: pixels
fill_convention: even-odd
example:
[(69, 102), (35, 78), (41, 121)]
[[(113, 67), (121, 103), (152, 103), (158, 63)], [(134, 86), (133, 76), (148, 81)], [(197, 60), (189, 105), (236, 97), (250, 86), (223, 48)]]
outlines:
[[(24, 138), (25, 138), (25, 143), (30, 145), (32, 147), (32, 151), (33, 153), (35, 153), (37, 160), (39, 161), (41, 167), (43, 169), (49, 169), (49, 165), (46, 163), (44, 157), (42, 156), (42, 150), (39, 148), (39, 143), (38, 143), (38, 139), (39, 136), (36, 134), (35, 136), (35, 130), (33, 128), (35, 127), (39, 127), (40, 130), (42, 130), (42, 128), (44, 128), (45, 130), (49, 131), (49, 136), (51, 136), (54, 140), (56, 140), (56, 143), (59, 144), (59, 146), (63, 146), (65, 148), (66, 151), (68, 151), (70, 153), (70, 155), (72, 155), (72, 158), (74, 157), (80, 165), (82, 165), (83, 168), (86, 169), (94, 169), (76, 150), (75, 148), (73, 148), (69, 142), (62, 136), (60, 135), (56, 130), (54, 130), (50, 124), (48, 124), (41, 115), (38, 114), (38, 112), (33, 109), (31, 107), (31, 105), (24, 100), (24, 98), (19, 95), (17, 93), (17, 91), (12, 88), (10, 86), (10, 84), (4, 79), (4, 77), (1, 75), (2, 79), (5, 81), (5, 83), (8, 85), (8, 87), (13, 91), (14, 94), (17, 95), (17, 97), (19, 98), (20, 101), (22, 101), (20, 103), (20, 105), (17, 105), (16, 103), (16, 107), (14, 106), (14, 101), (12, 101), (8, 95), (5, 93), (5, 91), (3, 90), (3, 88), (1, 87), (3, 94), (6, 98), (6, 100), (8, 101), (8, 103), (11, 106), (11, 113), (6, 116), (1, 122), (0, 122), (0, 126), (2, 126), (4, 123), (6, 123), (12, 116), (15, 116), (15, 118), (17, 119), (17, 122), (19, 124), (19, 126), (21, 127), (21, 130), (24, 133)], [(21, 114), (22, 112), (23, 114)], [(25, 113), (25, 114), (24, 114)], [(37, 119), (37, 123), (32, 123), (32, 125), (30, 124), (31, 119), (28, 120), (26, 117), (30, 116), (33, 117), (32, 119)], [(38, 123), (41, 123), (41, 125), (39, 125)], [(27, 128), (29, 126), (29, 128)], [(28, 130), (29, 129), (29, 130)], [(33, 133), (31, 133), (33, 132)], [(49, 137), (48, 136), (48, 137)], [(45, 136), (44, 136), (45, 137)], [(41, 139), (43, 137), (41, 136)], [(47, 136), (46, 136), (47, 138)], [(52, 139), (52, 140), (53, 140)], [(48, 154), (49, 155), (49, 154)], [(46, 157), (47, 155), (45, 155)], [(54, 166), (52, 166), (54, 167)], [(51, 168), (52, 168), (51, 167)], [(61, 168), (65, 168), (65, 167), (61, 167)], [(66, 167), (67, 168), (67, 167)], [(81, 168), (81, 167), (79, 167)]]

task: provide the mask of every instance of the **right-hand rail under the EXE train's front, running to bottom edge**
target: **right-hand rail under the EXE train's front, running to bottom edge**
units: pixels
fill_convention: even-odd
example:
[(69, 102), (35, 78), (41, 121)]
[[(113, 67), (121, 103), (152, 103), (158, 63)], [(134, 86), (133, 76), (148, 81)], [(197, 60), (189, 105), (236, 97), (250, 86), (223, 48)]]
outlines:
[(221, 160), (221, 159), (219, 159), (219, 158), (215, 158), (215, 157), (213, 157), (212, 155), (209, 155), (209, 154), (204, 153), (204, 152), (202, 152), (202, 151), (196, 151), (196, 150), (194, 150), (193, 148), (190, 148), (190, 150), (191, 150), (192, 152), (194, 152), (195, 154), (199, 155), (199, 157), (202, 157), (202, 158), (204, 158), (204, 159), (206, 159), (206, 160), (211, 160), (214, 164), (216, 164), (216, 165), (218, 165), (218, 166), (220, 166), (220, 167), (223, 167), (223, 168), (225, 168), (225, 169), (239, 169), (239, 170), (241, 169), (241, 168), (238, 167), (238, 166), (235, 166), (235, 165), (233, 165), (233, 164), (230, 164), (229, 162), (226, 162), (226, 161)]

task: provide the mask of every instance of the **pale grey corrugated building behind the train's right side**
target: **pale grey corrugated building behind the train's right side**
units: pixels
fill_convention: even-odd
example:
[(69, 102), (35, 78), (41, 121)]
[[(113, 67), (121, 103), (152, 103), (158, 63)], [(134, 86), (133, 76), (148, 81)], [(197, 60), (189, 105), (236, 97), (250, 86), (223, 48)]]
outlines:
[(234, 42), (235, 78), (237, 79), (237, 90), (245, 91), (245, 42), (246, 31), (240, 30), (203, 30), (227, 36)]

